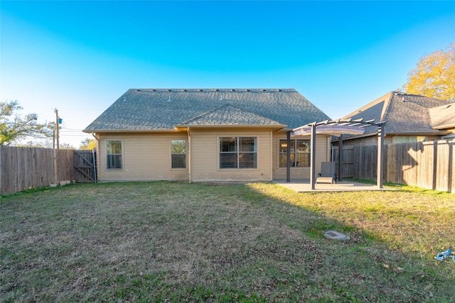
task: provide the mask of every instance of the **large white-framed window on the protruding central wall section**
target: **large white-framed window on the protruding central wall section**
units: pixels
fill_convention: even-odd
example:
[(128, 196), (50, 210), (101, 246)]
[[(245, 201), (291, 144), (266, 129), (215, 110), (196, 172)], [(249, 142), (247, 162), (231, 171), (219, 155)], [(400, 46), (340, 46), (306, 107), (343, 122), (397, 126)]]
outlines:
[(256, 137), (220, 138), (220, 168), (256, 168)]

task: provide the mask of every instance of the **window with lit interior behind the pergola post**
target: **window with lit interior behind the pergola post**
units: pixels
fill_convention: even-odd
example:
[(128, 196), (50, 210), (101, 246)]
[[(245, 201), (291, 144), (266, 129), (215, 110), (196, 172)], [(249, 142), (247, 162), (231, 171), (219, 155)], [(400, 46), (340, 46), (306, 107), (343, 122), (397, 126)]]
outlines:
[[(287, 140), (279, 141), (279, 167), (287, 167)], [(290, 142), (291, 167), (310, 166), (310, 141), (292, 139)]]

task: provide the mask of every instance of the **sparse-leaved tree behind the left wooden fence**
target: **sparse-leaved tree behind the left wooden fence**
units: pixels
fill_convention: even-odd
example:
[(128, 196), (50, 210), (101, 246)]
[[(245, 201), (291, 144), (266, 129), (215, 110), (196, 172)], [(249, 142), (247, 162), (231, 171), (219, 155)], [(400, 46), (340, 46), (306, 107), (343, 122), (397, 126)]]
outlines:
[(21, 116), (22, 106), (16, 101), (0, 101), (0, 144), (10, 144), (24, 138), (48, 138), (48, 124), (38, 123), (37, 114)]

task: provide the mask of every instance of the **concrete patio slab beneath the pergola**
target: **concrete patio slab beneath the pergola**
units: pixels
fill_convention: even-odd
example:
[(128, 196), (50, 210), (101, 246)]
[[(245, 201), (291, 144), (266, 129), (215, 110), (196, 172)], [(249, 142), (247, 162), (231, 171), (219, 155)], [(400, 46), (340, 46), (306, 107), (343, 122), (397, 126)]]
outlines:
[(292, 189), (296, 192), (355, 192), (355, 191), (372, 191), (372, 190), (394, 190), (391, 188), (380, 189), (375, 184), (365, 184), (352, 181), (341, 181), (334, 184), (316, 183), (315, 189), (311, 189), (309, 179), (294, 179), (291, 182), (286, 180), (273, 180), (272, 182)]

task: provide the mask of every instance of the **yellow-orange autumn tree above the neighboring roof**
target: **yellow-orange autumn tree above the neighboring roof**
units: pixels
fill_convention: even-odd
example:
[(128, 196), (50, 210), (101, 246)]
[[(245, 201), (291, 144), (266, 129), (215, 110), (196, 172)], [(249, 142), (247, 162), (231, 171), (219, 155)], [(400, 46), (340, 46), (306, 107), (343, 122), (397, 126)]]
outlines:
[(424, 55), (407, 76), (408, 94), (455, 101), (455, 43)]

